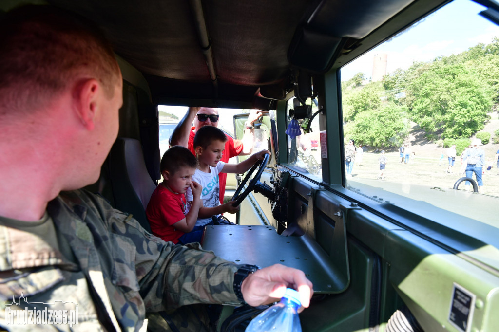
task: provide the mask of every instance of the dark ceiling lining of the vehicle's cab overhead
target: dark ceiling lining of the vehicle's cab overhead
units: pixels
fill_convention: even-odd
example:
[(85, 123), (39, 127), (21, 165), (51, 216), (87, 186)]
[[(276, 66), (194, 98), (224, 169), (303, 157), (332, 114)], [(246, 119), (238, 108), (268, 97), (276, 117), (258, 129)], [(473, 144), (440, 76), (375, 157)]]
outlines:
[[(259, 87), (275, 92), (265, 97), (283, 98), (292, 88), (291, 68), (328, 70), (341, 40), (365, 37), (411, 1), (48, 0), (96, 21), (116, 53), (144, 74), (153, 102), (234, 106), (258, 98)], [(195, 3), (202, 7), (209, 50), (201, 47)]]

